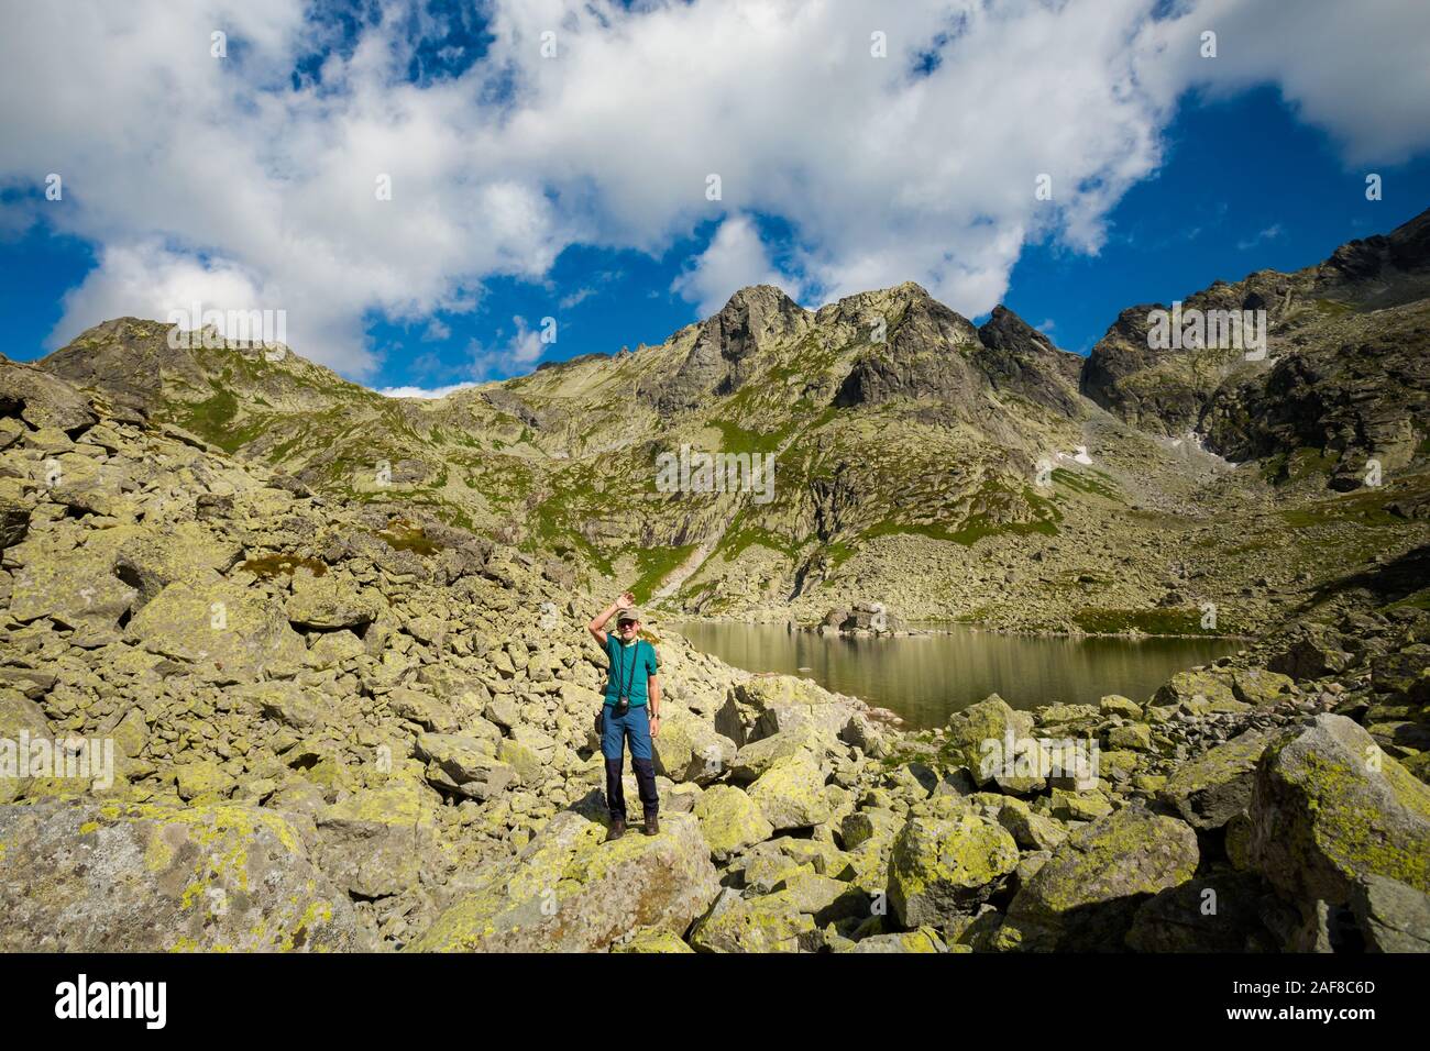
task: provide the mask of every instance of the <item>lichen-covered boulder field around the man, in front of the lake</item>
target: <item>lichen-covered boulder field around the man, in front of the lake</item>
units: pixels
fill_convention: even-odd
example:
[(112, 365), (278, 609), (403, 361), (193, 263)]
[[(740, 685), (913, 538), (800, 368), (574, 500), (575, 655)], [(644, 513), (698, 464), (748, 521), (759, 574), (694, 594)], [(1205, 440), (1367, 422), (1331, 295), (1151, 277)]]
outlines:
[(568, 566), (26, 366), (0, 412), (0, 949), (1430, 948), (1417, 608), (921, 732), (656, 619), (662, 831), (606, 842)]

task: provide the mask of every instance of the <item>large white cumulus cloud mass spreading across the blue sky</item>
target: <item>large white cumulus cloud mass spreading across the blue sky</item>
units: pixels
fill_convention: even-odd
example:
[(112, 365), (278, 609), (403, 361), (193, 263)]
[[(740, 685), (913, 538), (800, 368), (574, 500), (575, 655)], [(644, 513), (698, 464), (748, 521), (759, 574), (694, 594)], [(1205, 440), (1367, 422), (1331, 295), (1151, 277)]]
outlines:
[[(1351, 162), (1430, 144), (1419, 0), (492, 0), (486, 53), (416, 83), (425, 4), (376, 0), (350, 40), (305, 10), (7, 11), (0, 230), (97, 246), (51, 343), (202, 299), (283, 309), (295, 349), (363, 378), (373, 316), (428, 323), (492, 277), (546, 280), (571, 245), (659, 256), (711, 222), (675, 289), (702, 312), (732, 282), (831, 299), (912, 279), (972, 316), (1027, 243), (1101, 247), (1188, 89), (1277, 84)], [(34, 193), (50, 172), (63, 202)], [(784, 272), (751, 214), (786, 226)], [(531, 336), (485, 366), (535, 362)]]

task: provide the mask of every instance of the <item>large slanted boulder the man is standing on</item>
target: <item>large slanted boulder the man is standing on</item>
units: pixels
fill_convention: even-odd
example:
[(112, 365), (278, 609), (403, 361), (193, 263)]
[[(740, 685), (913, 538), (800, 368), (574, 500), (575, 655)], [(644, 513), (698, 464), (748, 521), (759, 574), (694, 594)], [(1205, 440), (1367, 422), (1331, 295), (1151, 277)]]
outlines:
[(556, 814), (409, 951), (596, 952), (638, 928), (679, 937), (715, 901), (715, 867), (692, 815), (662, 814), (659, 835), (605, 838), (599, 822)]

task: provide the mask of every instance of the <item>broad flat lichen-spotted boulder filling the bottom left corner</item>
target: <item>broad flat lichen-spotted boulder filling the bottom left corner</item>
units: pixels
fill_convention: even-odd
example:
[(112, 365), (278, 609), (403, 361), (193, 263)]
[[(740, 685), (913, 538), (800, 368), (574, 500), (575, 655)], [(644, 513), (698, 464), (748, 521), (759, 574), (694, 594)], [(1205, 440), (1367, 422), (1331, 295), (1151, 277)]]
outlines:
[(0, 951), (368, 951), (347, 895), (276, 811), (0, 806)]

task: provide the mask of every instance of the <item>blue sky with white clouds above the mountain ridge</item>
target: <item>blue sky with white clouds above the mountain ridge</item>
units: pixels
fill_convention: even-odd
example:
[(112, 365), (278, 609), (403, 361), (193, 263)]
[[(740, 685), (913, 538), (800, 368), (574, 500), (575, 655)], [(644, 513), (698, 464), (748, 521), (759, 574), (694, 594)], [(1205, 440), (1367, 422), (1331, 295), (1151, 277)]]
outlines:
[[(1008, 3), (997, 19), (911, 4), (927, 10), (887, 31), (894, 66), (865, 53), (877, 16), (798, 4), (775, 23), (734, 3), (596, 4), (595, 20), (559, 0), (212, 7), (153, 26), (170, 56), (174, 40), (202, 44), (179, 61), (156, 51), (180, 89), (159, 99), (172, 126), (133, 70), (4, 110), (7, 356), (197, 296), (286, 309), (299, 353), (370, 386), (439, 390), (658, 343), (756, 280), (809, 307), (917, 280), (975, 320), (1007, 303), (1085, 353), (1127, 306), (1308, 266), (1430, 206), (1430, 106), (1404, 109), (1423, 63), (1393, 31), (1424, 6), (1286, 29), (1234, 0), (1110, 0), (1101, 11), (1125, 24), (1107, 40), (1091, 4)], [(1223, 27), (1213, 61), (1197, 54), (1207, 24)], [(230, 26), (222, 60), (204, 53), (210, 26)], [(545, 64), (543, 26), (559, 27)], [(1050, 70), (987, 87), (981, 63), (1051, 47), (1050, 26), (1084, 53), (1050, 50)], [(54, 30), (20, 26), (0, 60), (43, 57)], [(1377, 83), (1334, 83), (1350, 74), (1323, 74), (1306, 33), (1373, 56)], [(722, 34), (768, 53), (726, 61)], [(768, 71), (819, 41), (845, 63), (837, 82)], [(682, 46), (702, 50), (672, 57)], [(709, 59), (698, 76), (691, 54)], [(868, 80), (824, 113), (821, 93), (851, 76)], [(43, 123), (47, 106), (90, 103), (114, 112), (72, 134)], [(122, 123), (136, 113), (142, 132)], [(46, 202), (54, 170), (73, 174)], [(393, 199), (372, 204), (370, 172), (389, 170)], [(709, 170), (722, 200), (704, 193)], [(1052, 204), (1021, 192), (1040, 170)], [(536, 336), (545, 317), (555, 343)]]

